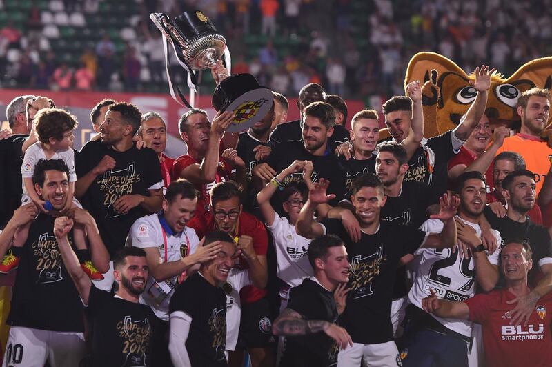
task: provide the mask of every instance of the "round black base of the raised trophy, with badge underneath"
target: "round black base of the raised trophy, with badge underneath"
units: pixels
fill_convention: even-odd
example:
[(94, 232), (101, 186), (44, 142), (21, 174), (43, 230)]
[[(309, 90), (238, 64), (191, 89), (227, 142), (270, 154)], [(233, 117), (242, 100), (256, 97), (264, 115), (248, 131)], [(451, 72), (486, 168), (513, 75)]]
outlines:
[(215, 88), (213, 108), (233, 111), (236, 115), (226, 131), (244, 131), (259, 122), (270, 110), (274, 97), (270, 89), (259, 85), (253, 75), (236, 74), (221, 81)]

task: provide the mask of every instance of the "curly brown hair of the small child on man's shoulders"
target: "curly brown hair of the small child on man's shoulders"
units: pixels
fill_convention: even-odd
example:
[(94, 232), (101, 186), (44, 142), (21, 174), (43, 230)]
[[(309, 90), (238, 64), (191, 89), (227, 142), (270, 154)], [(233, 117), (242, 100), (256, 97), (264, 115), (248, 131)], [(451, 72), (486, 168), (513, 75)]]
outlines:
[(34, 129), (41, 143), (50, 143), (50, 138), (57, 141), (63, 134), (77, 127), (77, 117), (61, 108), (43, 108), (34, 115)]

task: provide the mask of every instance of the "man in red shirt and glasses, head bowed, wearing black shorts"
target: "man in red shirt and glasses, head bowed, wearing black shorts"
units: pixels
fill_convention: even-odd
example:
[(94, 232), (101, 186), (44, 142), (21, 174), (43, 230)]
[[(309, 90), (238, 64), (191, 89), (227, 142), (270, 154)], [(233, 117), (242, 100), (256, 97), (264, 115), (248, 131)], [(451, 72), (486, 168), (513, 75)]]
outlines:
[[(210, 212), (196, 215), (188, 221), (188, 227), (195, 229), (199, 238), (211, 230), (228, 232), (236, 243), (243, 236), (253, 238), (257, 259), (266, 269), (268, 235), (264, 224), (253, 215), (242, 210), (239, 199), (241, 192), (234, 181), (215, 184), (210, 191)], [(247, 268), (247, 262), (239, 259), (237, 267)], [(242, 297), (242, 319), (236, 352), (230, 355), (229, 366), (239, 364), (243, 348), (248, 350), (253, 367), (273, 366), (275, 361), (275, 338), (271, 328), (273, 317), (266, 298), (266, 290), (247, 286), (240, 292)]]

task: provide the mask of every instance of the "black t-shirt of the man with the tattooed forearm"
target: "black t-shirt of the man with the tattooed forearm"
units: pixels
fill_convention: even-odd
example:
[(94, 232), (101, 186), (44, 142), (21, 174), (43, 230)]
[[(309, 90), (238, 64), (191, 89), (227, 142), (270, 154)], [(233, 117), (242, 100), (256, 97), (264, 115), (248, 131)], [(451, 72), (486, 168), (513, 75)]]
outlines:
[[(311, 279), (304, 279), (302, 284), (291, 288), (288, 308), (306, 320), (335, 323), (338, 317), (333, 293)], [(337, 343), (323, 331), (286, 337), (280, 366), (334, 367), (337, 366), (337, 353)]]

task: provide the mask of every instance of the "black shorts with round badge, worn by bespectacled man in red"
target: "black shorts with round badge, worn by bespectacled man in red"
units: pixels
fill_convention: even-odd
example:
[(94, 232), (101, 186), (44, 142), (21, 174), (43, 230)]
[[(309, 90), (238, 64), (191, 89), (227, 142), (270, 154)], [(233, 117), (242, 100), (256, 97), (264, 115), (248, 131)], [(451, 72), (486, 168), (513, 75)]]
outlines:
[(252, 304), (242, 304), (242, 319), (239, 323), (239, 348), (268, 348), (276, 346), (272, 335), (273, 315), (268, 298), (263, 297)]

